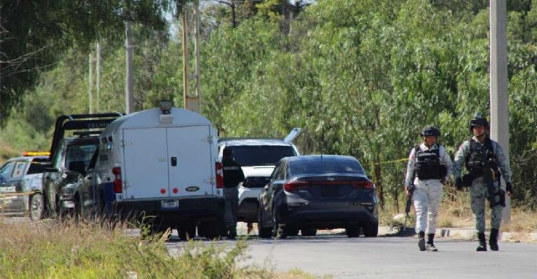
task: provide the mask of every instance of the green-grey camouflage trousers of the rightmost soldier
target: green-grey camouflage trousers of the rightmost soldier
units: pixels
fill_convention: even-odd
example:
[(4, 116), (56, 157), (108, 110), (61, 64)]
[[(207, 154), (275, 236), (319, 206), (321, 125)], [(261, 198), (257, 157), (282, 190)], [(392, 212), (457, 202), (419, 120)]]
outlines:
[[(494, 188), (496, 188), (496, 191), (499, 190), (497, 181), (494, 181)], [(485, 204), (485, 199), (488, 199), (488, 197), (489, 189), (487, 188), (485, 181), (483, 181), (482, 178), (474, 179), (470, 186), (470, 200), (473, 219), (475, 220), (475, 230), (478, 231), (478, 234), (485, 233), (485, 206), (487, 206)], [(490, 224), (493, 229), (500, 228), (502, 211), (503, 206), (501, 205), (496, 205), (492, 208)]]

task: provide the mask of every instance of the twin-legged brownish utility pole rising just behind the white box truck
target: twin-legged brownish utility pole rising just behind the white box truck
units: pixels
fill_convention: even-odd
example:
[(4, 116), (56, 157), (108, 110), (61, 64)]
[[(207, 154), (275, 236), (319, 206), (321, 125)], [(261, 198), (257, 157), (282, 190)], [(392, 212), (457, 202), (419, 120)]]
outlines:
[[(201, 109), (201, 84), (199, 66), (199, 0), (194, 0), (194, 75), (188, 74), (188, 24), (186, 6), (182, 6), (182, 86), (185, 96), (185, 109), (200, 112)], [(195, 95), (190, 94), (189, 79), (196, 79)]]

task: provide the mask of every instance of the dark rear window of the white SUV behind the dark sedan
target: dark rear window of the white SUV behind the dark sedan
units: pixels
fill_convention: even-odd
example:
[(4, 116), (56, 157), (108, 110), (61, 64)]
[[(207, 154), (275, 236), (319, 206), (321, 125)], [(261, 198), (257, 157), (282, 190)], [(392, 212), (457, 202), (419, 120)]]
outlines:
[(281, 158), (296, 156), (292, 146), (246, 145), (227, 146), (233, 151), (233, 158), (242, 167), (276, 165)]

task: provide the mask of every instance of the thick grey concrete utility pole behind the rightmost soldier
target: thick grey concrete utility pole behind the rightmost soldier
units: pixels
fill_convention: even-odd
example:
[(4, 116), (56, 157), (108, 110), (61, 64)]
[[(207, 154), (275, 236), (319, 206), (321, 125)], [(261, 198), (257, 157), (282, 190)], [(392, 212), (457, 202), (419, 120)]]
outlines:
[[(490, 137), (509, 160), (509, 102), (507, 80), (506, 0), (490, 0)], [(505, 186), (506, 181), (502, 179)], [(503, 223), (510, 223), (511, 199), (506, 195)]]

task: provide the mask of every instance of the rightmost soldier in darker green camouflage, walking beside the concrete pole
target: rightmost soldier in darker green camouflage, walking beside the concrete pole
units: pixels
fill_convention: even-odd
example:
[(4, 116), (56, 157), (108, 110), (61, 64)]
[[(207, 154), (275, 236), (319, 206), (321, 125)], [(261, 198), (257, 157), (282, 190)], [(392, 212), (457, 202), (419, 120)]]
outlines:
[[(498, 234), (501, 224), (501, 211), (505, 204), (505, 192), (500, 186), (500, 176), (506, 181), (508, 195), (513, 194), (511, 184), (511, 169), (509, 161), (503, 154), (501, 146), (490, 140), (487, 131), (489, 122), (481, 116), (474, 114), (470, 121), (471, 140), (463, 142), (455, 155), (453, 174), (457, 190), (463, 186), (470, 187), (470, 199), (475, 220), (475, 229), (478, 232), (478, 251), (486, 251), (485, 239), (485, 198), (489, 199), (491, 213), (490, 250), (497, 251)], [(463, 166), (468, 174), (461, 176)], [(500, 175), (501, 173), (501, 175)]]

